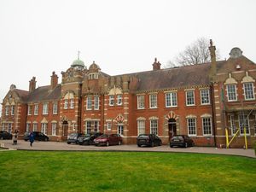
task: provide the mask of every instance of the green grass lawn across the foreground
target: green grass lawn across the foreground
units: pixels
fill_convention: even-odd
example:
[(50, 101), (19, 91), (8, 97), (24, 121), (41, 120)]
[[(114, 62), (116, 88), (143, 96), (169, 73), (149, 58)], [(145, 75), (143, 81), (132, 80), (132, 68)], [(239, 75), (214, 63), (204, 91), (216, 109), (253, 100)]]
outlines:
[(147, 152), (0, 153), (0, 191), (256, 191), (256, 160)]

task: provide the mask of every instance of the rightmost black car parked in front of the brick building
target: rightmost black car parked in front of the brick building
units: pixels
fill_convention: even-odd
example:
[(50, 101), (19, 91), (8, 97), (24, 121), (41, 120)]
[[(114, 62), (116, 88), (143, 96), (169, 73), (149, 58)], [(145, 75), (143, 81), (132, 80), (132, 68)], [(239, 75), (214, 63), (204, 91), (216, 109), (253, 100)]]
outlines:
[(172, 137), (171, 142), (170, 142), (170, 147), (171, 148), (173, 146), (187, 148), (189, 146), (192, 147), (194, 145), (195, 145), (195, 143), (194, 143), (193, 139), (191, 139), (187, 135), (174, 136), (174, 137)]

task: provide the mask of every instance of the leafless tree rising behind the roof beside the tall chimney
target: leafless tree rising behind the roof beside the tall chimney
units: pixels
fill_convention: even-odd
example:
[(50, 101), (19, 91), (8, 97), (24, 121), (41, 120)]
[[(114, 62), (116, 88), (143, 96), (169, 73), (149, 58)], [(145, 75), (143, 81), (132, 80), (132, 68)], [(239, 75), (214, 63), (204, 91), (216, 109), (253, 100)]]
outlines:
[[(175, 57), (175, 62), (168, 61), (166, 67), (188, 66), (211, 61), (209, 52), (209, 40), (207, 38), (198, 38), (194, 43), (187, 46), (182, 52)], [(219, 59), (218, 49), (216, 50), (216, 59)]]

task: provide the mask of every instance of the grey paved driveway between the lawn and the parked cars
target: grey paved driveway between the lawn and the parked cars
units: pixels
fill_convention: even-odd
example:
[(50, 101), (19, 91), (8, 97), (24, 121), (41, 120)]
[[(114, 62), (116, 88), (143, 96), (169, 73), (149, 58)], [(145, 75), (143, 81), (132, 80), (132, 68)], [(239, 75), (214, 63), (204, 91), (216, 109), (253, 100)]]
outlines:
[(116, 145), (109, 147), (81, 146), (76, 144), (67, 144), (62, 142), (34, 142), (30, 147), (29, 142), (18, 140), (17, 145), (12, 145), (11, 140), (0, 140), (5, 148), (20, 150), (67, 150), (67, 151), (159, 151), (159, 152), (185, 152), (185, 153), (201, 153), (201, 154), (231, 154), (256, 158), (254, 149), (243, 148), (210, 148), (210, 147), (193, 147), (193, 148), (170, 148), (163, 145), (154, 148), (138, 148), (137, 145)]

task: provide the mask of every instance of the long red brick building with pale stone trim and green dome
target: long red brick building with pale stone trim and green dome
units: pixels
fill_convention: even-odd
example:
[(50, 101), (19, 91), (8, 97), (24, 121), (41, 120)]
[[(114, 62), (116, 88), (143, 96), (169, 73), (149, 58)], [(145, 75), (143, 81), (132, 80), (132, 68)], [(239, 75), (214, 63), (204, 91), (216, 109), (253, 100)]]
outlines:
[(168, 143), (175, 134), (188, 134), (199, 146), (226, 143), (248, 146), (256, 136), (256, 65), (231, 49), (230, 58), (200, 65), (110, 76), (93, 62), (87, 69), (79, 58), (62, 72), (61, 84), (52, 73), (50, 84), (29, 90), (15, 85), (3, 99), (2, 130), (42, 131), (51, 140), (67, 139), (71, 132), (119, 133), (124, 143), (136, 143), (140, 133), (155, 133)]

